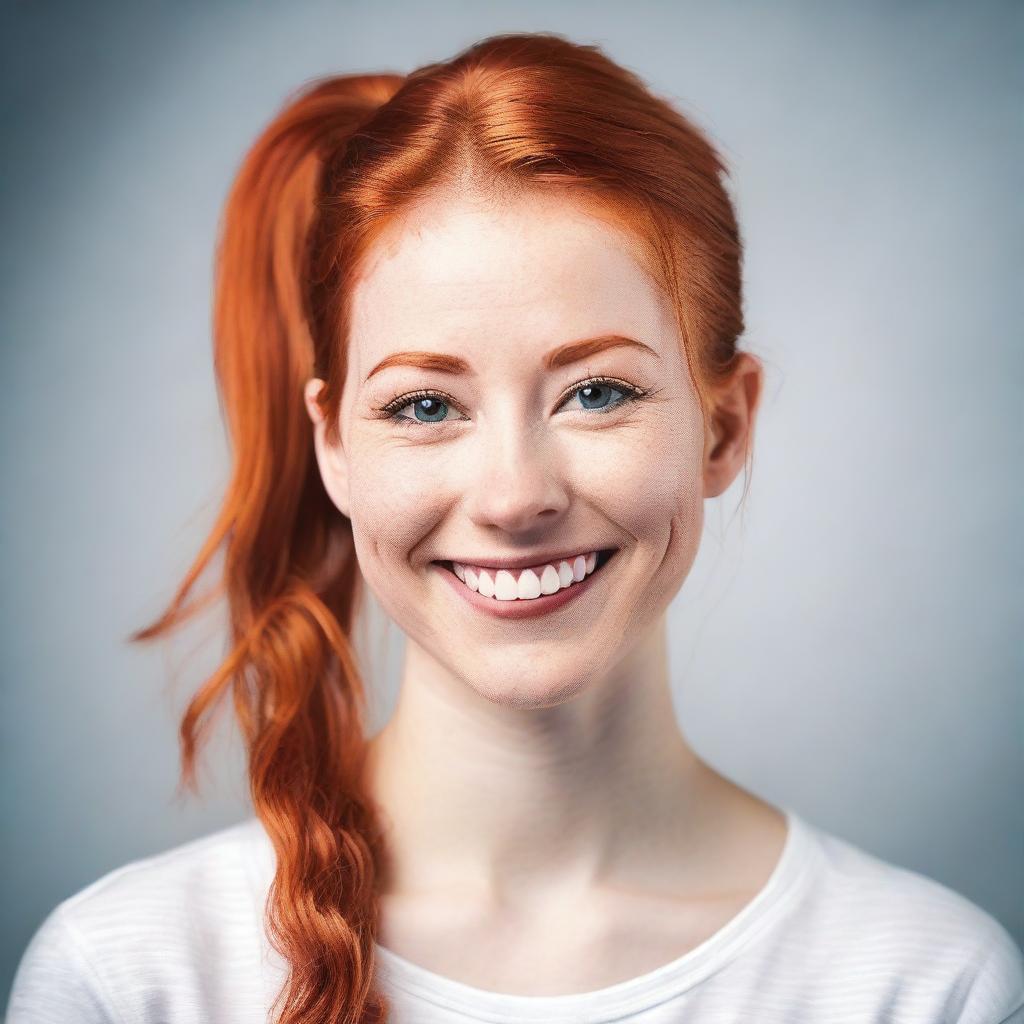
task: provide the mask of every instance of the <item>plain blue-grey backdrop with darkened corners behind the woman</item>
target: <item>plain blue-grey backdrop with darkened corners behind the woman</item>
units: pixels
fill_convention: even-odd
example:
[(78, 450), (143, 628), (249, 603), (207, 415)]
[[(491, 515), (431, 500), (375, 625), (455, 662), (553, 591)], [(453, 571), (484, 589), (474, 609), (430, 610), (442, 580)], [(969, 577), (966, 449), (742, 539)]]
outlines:
[[(58, 900), (250, 813), (226, 725), (174, 798), (217, 615), (126, 642), (225, 482), (210, 265), (245, 148), (313, 76), (522, 29), (601, 45), (733, 169), (768, 385), (743, 511), (740, 477), (671, 609), (687, 736), (1024, 941), (1022, 10), (8, 3), (0, 990)], [(379, 725), (400, 641), (375, 622)]]

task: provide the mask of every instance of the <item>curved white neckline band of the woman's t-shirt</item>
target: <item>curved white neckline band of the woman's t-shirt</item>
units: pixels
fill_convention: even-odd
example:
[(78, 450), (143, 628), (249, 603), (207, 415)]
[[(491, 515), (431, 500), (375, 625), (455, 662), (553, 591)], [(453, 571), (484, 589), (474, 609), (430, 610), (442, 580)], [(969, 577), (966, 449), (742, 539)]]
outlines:
[(386, 985), (445, 1010), (480, 1021), (618, 1020), (664, 1002), (721, 970), (795, 905), (810, 877), (814, 851), (804, 819), (780, 807), (786, 820), (782, 852), (768, 881), (722, 928), (681, 956), (645, 974), (603, 988), (564, 995), (513, 995), (476, 988), (429, 971), (375, 942), (377, 965)]

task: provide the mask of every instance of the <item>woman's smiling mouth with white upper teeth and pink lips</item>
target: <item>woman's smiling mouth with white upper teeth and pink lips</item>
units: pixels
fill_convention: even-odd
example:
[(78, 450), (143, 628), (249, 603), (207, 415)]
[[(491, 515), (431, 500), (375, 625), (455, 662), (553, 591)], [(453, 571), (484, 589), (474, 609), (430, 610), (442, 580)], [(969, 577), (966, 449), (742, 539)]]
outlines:
[(450, 584), (482, 611), (503, 618), (542, 614), (590, 589), (615, 548), (569, 555), (523, 568), (495, 568), (457, 561), (434, 564)]

